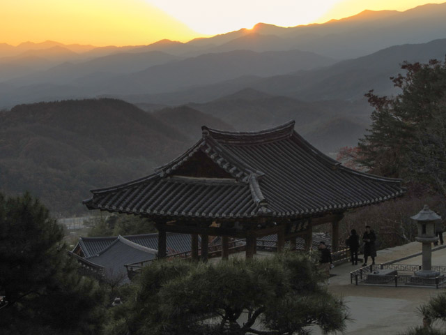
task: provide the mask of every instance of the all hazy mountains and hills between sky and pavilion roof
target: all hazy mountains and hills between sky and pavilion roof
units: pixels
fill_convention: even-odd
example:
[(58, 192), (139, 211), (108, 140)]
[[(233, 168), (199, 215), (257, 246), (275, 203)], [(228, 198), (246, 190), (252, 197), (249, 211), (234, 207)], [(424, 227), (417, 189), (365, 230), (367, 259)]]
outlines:
[(1, 188), (79, 211), (89, 188), (151, 173), (203, 124), (253, 131), (295, 119), (334, 154), (369, 126), (367, 91), (393, 94), (403, 61), (445, 59), (444, 17), (446, 3), (188, 43), (0, 44)]

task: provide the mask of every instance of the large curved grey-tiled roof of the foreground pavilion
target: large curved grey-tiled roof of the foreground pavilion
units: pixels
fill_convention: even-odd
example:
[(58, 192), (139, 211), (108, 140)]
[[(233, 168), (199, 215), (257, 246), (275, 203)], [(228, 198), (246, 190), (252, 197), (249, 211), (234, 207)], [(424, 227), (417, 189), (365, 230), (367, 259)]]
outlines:
[[(154, 174), (93, 190), (84, 203), (89, 209), (173, 218), (296, 218), (403, 194), (400, 179), (356, 172), (322, 154), (294, 131), (294, 121), (258, 132), (202, 129), (201, 140)], [(199, 152), (231, 178), (177, 176), (178, 168), (197, 164)]]

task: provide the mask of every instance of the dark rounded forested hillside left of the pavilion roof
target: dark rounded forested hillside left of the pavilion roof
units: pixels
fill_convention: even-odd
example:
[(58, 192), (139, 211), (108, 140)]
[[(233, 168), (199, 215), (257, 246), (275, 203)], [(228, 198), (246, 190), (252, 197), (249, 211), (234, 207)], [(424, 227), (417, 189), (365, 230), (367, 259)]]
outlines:
[(1, 190), (29, 190), (54, 214), (82, 211), (91, 188), (150, 174), (189, 141), (114, 99), (17, 105), (0, 114)]

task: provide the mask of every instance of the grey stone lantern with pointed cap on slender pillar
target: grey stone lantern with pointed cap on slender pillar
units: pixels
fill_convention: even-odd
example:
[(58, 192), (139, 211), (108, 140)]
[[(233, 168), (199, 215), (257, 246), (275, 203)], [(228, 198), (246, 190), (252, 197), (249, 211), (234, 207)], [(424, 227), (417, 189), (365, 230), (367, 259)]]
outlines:
[(415, 271), (415, 276), (439, 276), (440, 272), (432, 270), (432, 243), (438, 240), (435, 234), (435, 224), (441, 220), (441, 216), (431, 211), (429, 206), (425, 204), (420, 213), (411, 218), (417, 221), (418, 236), (415, 237), (415, 240), (423, 244), (422, 269)]

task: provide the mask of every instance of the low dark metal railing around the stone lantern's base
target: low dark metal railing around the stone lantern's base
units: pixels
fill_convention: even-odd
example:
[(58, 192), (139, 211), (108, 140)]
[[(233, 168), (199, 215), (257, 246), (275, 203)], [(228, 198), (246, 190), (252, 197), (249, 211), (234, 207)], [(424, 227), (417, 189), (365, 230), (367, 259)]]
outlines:
[[(446, 286), (446, 267), (433, 266), (433, 271), (440, 272), (439, 276), (435, 277), (420, 277), (414, 276), (415, 271), (421, 270), (421, 265), (406, 265), (406, 264), (379, 264), (367, 265), (361, 267), (350, 273), (350, 282), (355, 285), (382, 285), (382, 286), (424, 286), (441, 288)], [(380, 270), (395, 270), (397, 274), (380, 275)], [(372, 275), (369, 277), (369, 275)]]

